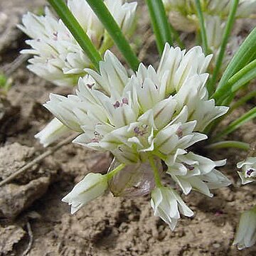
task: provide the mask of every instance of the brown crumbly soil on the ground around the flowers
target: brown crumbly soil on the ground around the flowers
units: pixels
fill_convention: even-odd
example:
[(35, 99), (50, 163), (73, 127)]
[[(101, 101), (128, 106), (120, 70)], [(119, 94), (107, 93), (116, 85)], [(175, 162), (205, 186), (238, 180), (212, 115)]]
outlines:
[[(21, 14), (38, 10), (46, 2), (1, 0), (0, 68), (6, 70), (24, 48), (24, 39), (16, 30)], [(142, 6), (142, 8), (144, 8)], [(4, 18), (3, 18), (4, 17)], [(144, 31), (148, 21), (139, 24)], [(150, 59), (156, 62), (154, 45)], [(67, 95), (71, 89), (55, 87), (26, 70), (23, 63), (11, 74), (13, 86), (0, 107), (0, 178), (42, 154), (44, 149), (34, 134), (52, 118), (42, 107), (50, 92)], [(230, 122), (255, 105), (249, 102), (232, 114)], [(248, 122), (229, 139), (253, 142), (256, 124)], [(201, 149), (204, 151), (204, 149)], [(155, 218), (150, 197), (113, 198), (105, 193), (75, 215), (61, 202), (75, 183), (90, 171), (105, 173), (109, 154), (88, 151), (67, 144), (40, 163), (17, 176), (0, 190), (1, 255), (38, 256), (128, 256), (128, 255), (256, 255), (256, 247), (239, 251), (232, 245), (242, 210), (252, 206), (255, 185), (240, 186), (235, 163), (245, 153), (235, 149), (203, 152), (212, 159), (228, 159), (221, 169), (233, 185), (214, 191), (213, 198), (193, 192), (183, 197), (194, 211), (193, 218), (181, 218), (171, 231)]]

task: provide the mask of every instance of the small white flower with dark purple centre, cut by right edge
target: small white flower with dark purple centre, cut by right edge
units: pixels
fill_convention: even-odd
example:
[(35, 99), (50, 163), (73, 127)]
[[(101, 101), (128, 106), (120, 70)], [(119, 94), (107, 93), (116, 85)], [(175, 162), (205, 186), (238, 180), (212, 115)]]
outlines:
[(243, 185), (256, 180), (256, 157), (247, 157), (244, 161), (240, 161), (237, 166), (239, 169), (242, 168), (241, 171), (238, 171), (238, 175)]

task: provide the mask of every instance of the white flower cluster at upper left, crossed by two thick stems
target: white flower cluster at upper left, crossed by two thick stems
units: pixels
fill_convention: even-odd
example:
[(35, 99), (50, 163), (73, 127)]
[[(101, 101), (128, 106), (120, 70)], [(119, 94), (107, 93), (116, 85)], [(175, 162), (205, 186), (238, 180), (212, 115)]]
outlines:
[[(122, 32), (128, 35), (134, 23), (137, 2), (123, 2), (105, 0)], [(98, 50), (104, 51), (112, 46), (110, 36), (85, 0), (68, 0), (68, 7)], [(33, 55), (28, 60), (28, 69), (36, 75), (55, 85), (73, 87), (92, 63), (63, 22), (49, 9), (46, 8), (45, 12), (45, 16), (31, 13), (23, 16), (23, 25), (18, 25), (18, 28), (31, 38), (26, 41), (31, 49), (21, 50), (21, 53)]]

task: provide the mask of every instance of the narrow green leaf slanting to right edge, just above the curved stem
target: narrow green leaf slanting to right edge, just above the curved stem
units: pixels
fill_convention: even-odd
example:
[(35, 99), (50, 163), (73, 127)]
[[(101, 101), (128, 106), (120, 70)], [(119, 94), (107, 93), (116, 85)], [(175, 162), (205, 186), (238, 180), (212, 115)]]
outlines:
[(230, 132), (235, 131), (235, 129), (238, 129), (242, 124), (245, 124), (245, 122), (250, 121), (251, 119), (254, 119), (256, 117), (256, 107), (253, 107), (252, 110), (246, 112), (241, 117), (236, 119), (234, 122), (228, 125), (225, 129), (223, 129), (222, 132), (218, 133), (213, 137), (213, 141), (216, 139), (223, 137), (224, 135), (230, 134)]

